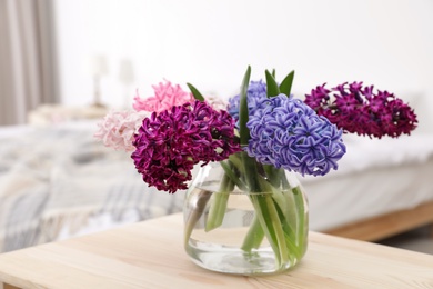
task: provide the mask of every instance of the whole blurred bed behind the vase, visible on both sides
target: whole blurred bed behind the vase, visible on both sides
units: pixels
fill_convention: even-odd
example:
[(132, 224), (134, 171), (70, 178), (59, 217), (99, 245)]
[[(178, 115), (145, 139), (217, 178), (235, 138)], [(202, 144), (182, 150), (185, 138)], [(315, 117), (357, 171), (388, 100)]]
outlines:
[[(180, 212), (184, 191), (148, 188), (93, 122), (0, 129), (0, 251)], [(345, 136), (340, 169), (302, 178), (315, 231), (379, 240), (433, 222), (433, 137)]]

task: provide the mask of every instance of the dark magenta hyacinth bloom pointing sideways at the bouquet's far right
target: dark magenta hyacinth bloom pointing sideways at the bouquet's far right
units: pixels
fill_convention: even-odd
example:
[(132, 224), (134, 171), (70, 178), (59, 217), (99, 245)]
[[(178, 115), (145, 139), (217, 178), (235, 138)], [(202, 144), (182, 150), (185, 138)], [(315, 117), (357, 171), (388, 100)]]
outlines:
[[(332, 98), (333, 97), (333, 98)], [(319, 86), (305, 96), (305, 103), (345, 132), (382, 138), (410, 134), (416, 128), (416, 114), (393, 93), (346, 82), (331, 90)]]

